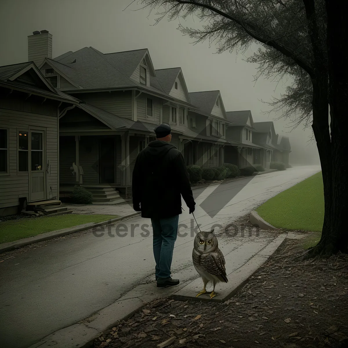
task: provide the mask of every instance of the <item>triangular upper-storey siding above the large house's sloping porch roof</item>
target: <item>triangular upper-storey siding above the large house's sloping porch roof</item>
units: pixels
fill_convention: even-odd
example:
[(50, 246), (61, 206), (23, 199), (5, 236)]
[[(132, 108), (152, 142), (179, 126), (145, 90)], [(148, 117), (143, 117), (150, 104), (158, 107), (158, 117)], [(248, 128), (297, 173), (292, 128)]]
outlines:
[(132, 119), (132, 91), (83, 93), (76, 98), (116, 116)]

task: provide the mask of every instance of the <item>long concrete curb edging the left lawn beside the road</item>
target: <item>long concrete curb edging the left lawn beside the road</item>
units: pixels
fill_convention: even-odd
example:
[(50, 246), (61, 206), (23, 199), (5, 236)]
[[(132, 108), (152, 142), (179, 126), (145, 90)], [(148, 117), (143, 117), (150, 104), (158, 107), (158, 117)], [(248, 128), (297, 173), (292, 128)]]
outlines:
[(2, 244), (0, 244), (0, 254), (4, 253), (6, 251), (11, 251), (11, 250), (21, 248), (23, 246), (27, 246), (27, 245), (30, 245), (33, 243), (43, 242), (45, 240), (70, 235), (70, 234), (75, 233), (75, 232), (86, 231), (86, 230), (89, 230), (91, 228), (108, 225), (108, 224), (116, 222), (116, 221), (127, 219), (128, 217), (140, 215), (140, 213), (141, 212), (135, 212), (135, 213), (128, 214), (125, 216), (115, 217), (115, 218), (110, 219), (108, 221), (102, 221), (102, 222), (97, 222), (97, 223), (89, 222), (89, 223), (85, 223), (83, 225), (64, 228), (62, 230), (45, 232), (45, 234), (42, 234), (42, 235), (23, 238), (23, 239), (15, 240), (14, 242), (2, 243)]

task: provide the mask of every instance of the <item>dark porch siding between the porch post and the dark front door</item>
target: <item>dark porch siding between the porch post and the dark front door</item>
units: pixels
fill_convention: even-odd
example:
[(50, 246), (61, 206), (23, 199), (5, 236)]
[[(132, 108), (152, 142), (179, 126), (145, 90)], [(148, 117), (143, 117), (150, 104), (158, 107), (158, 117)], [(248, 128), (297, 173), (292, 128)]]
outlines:
[(81, 136), (79, 144), (79, 160), (80, 166), (84, 171), (84, 184), (99, 183), (99, 166), (98, 166), (98, 141), (96, 136)]

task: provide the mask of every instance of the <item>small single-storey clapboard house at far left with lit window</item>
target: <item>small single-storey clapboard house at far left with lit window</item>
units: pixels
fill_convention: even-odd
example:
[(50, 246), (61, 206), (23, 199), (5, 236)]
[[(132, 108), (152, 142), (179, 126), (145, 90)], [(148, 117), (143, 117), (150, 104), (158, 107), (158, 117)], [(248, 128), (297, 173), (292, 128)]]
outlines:
[(58, 119), (78, 100), (26, 62), (0, 67), (0, 105), (0, 216), (59, 205)]

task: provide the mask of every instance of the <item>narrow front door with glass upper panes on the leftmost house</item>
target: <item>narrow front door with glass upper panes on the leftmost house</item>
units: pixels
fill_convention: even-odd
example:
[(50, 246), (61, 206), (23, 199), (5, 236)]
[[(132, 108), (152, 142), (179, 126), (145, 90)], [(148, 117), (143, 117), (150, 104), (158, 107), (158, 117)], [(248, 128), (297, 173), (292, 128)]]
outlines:
[(45, 149), (45, 131), (31, 129), (30, 139), (30, 201), (46, 199), (46, 149)]

